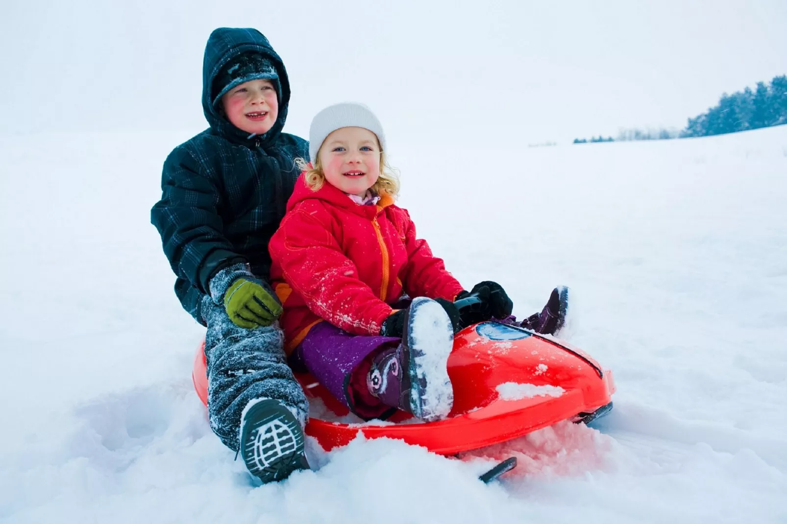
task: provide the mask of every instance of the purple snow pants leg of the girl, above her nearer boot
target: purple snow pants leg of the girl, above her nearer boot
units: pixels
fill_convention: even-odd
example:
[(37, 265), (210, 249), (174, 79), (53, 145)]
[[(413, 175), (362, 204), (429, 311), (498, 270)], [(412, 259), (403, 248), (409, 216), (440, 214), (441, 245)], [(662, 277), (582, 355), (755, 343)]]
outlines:
[(357, 384), (351, 384), (353, 371), (377, 349), (398, 345), (400, 341), (401, 338), (396, 337), (349, 334), (323, 321), (315, 324), (295, 347), (289, 363), (295, 371), (309, 371), (317, 382), (325, 386), (331, 395), (356, 415), (364, 419), (374, 419), (390, 412), (391, 408), (375, 402), (376, 399), (371, 397), (371, 393), (365, 395), (364, 400), (366, 404), (376, 405), (358, 404), (358, 395), (353, 396), (352, 391), (353, 386), (356, 386), (356, 389), (358, 387)]

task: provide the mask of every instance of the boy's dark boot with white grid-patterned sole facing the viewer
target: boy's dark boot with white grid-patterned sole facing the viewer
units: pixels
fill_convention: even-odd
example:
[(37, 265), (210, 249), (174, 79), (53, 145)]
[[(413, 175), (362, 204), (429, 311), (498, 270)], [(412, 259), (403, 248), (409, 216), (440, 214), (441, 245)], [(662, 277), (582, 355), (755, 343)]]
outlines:
[(301, 423), (279, 400), (252, 400), (243, 410), (240, 454), (249, 473), (264, 483), (309, 469)]

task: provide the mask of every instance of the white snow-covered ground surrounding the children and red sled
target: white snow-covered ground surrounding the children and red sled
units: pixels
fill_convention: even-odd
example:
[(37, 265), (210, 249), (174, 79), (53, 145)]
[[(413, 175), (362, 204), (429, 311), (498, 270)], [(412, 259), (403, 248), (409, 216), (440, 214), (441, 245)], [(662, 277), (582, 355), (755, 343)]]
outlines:
[[(515, 313), (567, 284), (615, 409), (466, 460), (312, 448), (253, 485), (191, 388), (149, 223), (189, 132), (0, 140), (2, 522), (787, 522), (787, 126), (524, 149), (390, 137), (401, 204)], [(398, 139), (397, 139), (398, 138)], [(502, 482), (475, 475), (518, 456)]]

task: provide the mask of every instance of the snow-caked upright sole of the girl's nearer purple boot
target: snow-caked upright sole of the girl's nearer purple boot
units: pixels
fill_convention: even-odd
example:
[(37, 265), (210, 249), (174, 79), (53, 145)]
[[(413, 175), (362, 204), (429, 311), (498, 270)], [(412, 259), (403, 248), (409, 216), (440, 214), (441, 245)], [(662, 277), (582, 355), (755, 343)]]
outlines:
[(445, 419), (453, 408), (453, 385), (448, 376), (453, 349), (451, 319), (437, 302), (416, 297), (410, 304), (406, 336), (412, 414), (427, 422)]

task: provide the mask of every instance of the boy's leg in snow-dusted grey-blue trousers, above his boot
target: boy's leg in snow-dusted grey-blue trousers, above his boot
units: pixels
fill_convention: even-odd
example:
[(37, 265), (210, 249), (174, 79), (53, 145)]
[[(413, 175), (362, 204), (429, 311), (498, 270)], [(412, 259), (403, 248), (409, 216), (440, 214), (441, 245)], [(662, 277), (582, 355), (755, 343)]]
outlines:
[(238, 451), (241, 415), (252, 400), (279, 400), (305, 426), (309, 404), (286, 364), (279, 327), (238, 327), (209, 297), (202, 301), (202, 316), (208, 324), (209, 422), (224, 445)]

